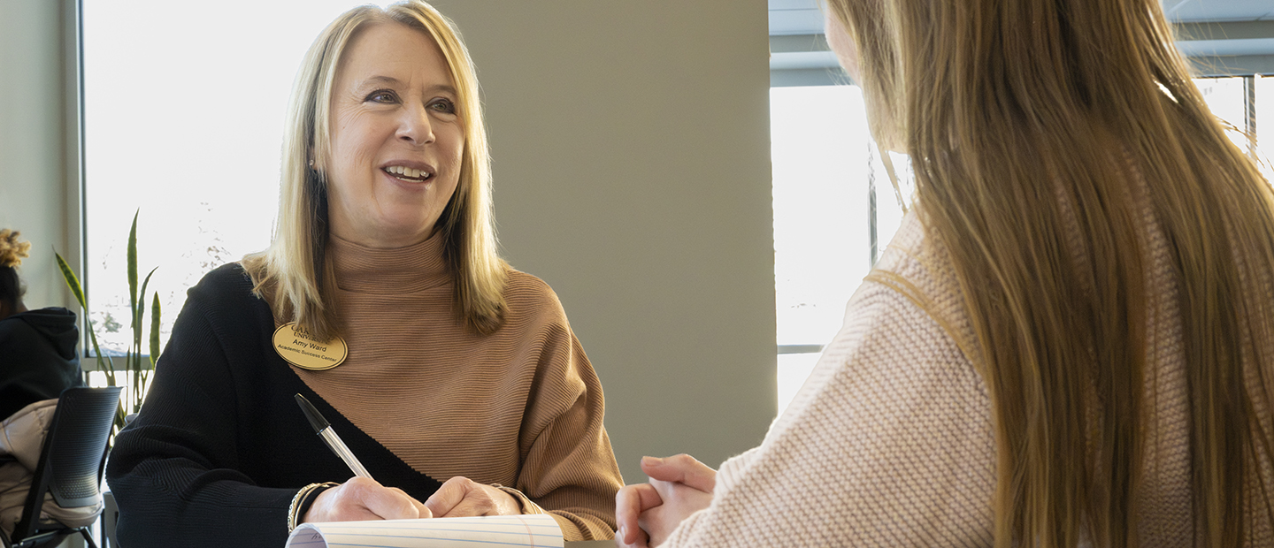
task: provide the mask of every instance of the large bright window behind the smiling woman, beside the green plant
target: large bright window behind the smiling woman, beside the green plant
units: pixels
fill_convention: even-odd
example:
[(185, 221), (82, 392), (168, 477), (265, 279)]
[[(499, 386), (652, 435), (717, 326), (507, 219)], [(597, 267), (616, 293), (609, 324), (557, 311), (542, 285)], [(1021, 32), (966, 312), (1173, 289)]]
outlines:
[(134, 211), (140, 276), (158, 266), (163, 341), (190, 286), (268, 245), (293, 76), (358, 4), (83, 0), (84, 277), (103, 352), (127, 345)]

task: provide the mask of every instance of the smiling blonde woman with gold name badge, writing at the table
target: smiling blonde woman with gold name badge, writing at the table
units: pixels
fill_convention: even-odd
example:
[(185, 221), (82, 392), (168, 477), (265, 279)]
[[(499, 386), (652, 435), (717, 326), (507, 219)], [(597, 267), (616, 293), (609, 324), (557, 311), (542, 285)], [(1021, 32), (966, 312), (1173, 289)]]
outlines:
[[(190, 290), (111, 454), (121, 544), (536, 512), (568, 540), (612, 538), (601, 385), (553, 291), (496, 254), (451, 23), (423, 1), (347, 11), (306, 55), (285, 132), (274, 242)], [(350, 478), (298, 393), (375, 481)]]

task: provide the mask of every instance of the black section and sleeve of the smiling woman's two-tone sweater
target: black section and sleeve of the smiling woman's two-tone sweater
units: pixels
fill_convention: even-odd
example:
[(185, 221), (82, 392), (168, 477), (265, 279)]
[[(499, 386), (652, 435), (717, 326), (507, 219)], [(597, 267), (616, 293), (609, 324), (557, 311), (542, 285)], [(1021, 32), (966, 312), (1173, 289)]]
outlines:
[(251, 291), (242, 267), (225, 264), (189, 292), (107, 467), (125, 547), (283, 547), (297, 490), (353, 476), (315, 435), (297, 393), (382, 484), (420, 501), (441, 486), (306, 387), (274, 351), (274, 317)]

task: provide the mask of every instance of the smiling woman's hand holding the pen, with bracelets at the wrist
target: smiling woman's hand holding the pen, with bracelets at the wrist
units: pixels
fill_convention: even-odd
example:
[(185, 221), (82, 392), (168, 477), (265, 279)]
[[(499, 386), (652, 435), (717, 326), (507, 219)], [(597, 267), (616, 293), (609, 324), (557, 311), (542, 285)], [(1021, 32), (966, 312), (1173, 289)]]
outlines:
[(429, 509), (397, 487), (353, 477), (318, 493), (302, 523), (432, 517)]

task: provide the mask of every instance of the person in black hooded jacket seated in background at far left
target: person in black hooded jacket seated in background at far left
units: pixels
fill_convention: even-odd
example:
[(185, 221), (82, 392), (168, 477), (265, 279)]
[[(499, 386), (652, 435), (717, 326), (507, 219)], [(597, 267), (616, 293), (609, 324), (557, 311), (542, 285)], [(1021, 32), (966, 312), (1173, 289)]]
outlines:
[[(65, 308), (27, 310), (18, 266), (29, 242), (0, 230), (0, 534), (9, 538), (22, 519), (45, 432), (62, 390), (84, 384), (75, 343), (75, 313)], [(43, 514), (70, 526), (93, 523), (101, 503), (61, 509), (46, 501)]]

